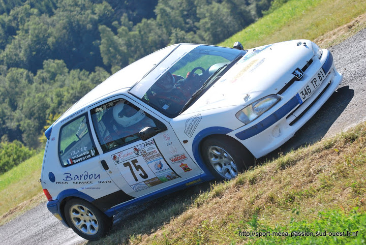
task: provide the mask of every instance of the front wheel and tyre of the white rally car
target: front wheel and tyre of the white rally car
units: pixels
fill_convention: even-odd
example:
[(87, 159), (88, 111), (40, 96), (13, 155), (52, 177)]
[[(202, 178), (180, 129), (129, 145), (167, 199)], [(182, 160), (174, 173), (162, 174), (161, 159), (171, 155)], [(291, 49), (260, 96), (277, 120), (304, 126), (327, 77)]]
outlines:
[(228, 180), (254, 163), (251, 152), (229, 136), (207, 138), (201, 145), (201, 154), (209, 171), (220, 180)]

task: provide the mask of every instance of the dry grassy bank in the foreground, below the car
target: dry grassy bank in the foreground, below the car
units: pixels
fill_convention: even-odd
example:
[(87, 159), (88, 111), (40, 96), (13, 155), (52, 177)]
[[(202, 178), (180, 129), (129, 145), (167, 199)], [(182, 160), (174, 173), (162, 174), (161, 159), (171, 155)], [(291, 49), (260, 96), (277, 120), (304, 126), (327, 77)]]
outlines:
[[(356, 244), (365, 238), (365, 163), (366, 123), (362, 123), (337, 137), (256, 166), (231, 181), (211, 183), (201, 194), (160, 199), (155, 207), (119, 222), (110, 235), (90, 243)], [(358, 235), (284, 239), (246, 237), (240, 231), (358, 231)]]

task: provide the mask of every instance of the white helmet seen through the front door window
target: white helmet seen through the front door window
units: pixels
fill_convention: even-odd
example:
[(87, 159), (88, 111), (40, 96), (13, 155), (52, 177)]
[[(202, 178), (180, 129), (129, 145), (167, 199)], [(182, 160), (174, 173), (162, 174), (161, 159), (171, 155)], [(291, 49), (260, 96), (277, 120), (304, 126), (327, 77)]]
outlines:
[(143, 110), (136, 110), (134, 107), (119, 101), (113, 107), (113, 118), (119, 125), (129, 127), (141, 121), (145, 117)]

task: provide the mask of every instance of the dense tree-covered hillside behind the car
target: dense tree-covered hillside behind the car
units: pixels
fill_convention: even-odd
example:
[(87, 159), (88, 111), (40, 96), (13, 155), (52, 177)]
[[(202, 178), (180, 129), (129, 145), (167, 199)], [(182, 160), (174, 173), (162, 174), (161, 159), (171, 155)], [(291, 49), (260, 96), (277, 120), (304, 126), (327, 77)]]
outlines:
[(0, 138), (37, 148), (49, 116), (110, 73), (170, 44), (216, 44), (263, 1), (0, 0)]

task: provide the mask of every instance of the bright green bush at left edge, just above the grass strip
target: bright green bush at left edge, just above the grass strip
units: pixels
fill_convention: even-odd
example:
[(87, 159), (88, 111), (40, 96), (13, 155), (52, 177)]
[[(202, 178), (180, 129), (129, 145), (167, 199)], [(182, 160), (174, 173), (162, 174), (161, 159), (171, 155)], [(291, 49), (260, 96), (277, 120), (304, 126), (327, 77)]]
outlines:
[(35, 155), (35, 150), (28, 149), (21, 142), (0, 143), (0, 174), (9, 171), (14, 166)]

